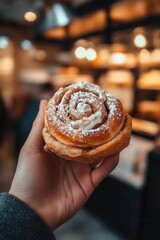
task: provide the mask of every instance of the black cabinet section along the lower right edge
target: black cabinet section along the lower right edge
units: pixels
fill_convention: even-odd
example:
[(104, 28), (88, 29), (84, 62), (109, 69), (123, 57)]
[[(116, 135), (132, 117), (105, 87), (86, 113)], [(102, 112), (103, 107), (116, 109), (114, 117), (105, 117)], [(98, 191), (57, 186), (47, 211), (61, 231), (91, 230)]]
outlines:
[(160, 148), (148, 154), (147, 181), (144, 189), (139, 239), (159, 239), (160, 219)]

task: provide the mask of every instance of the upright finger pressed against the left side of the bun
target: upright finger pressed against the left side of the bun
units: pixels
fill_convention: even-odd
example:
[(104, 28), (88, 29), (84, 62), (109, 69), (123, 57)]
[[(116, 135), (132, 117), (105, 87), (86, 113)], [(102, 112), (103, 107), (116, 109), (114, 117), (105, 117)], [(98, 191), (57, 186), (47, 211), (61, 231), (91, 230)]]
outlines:
[(38, 114), (33, 122), (32, 129), (25, 143), (28, 147), (34, 147), (37, 149), (41, 149), (43, 147), (42, 130), (44, 127), (44, 112), (46, 104), (46, 100), (41, 100)]

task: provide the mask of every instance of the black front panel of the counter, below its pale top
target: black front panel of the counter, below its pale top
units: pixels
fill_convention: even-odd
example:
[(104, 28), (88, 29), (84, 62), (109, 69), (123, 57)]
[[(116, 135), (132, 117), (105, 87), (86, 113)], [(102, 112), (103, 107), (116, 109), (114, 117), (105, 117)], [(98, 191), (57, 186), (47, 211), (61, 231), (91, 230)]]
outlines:
[(105, 179), (88, 200), (86, 209), (122, 239), (137, 240), (143, 186), (137, 188), (119, 177), (110, 175)]

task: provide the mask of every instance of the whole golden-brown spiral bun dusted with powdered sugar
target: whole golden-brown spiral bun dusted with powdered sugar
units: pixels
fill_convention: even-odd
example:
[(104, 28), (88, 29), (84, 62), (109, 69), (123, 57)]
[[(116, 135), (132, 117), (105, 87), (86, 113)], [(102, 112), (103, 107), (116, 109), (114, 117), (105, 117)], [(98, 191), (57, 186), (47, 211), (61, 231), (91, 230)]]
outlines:
[(48, 101), (43, 137), (60, 157), (93, 163), (129, 144), (131, 117), (97, 85), (79, 82), (60, 88)]

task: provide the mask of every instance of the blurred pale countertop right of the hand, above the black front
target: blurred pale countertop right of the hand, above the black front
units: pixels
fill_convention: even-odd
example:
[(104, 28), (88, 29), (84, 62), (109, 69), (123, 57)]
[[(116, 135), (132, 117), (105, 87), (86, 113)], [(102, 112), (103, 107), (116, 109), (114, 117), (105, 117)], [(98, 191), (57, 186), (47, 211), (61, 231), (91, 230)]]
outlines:
[(154, 142), (132, 134), (130, 144), (120, 153), (120, 161), (111, 176), (139, 189), (144, 185), (147, 154), (154, 148)]

